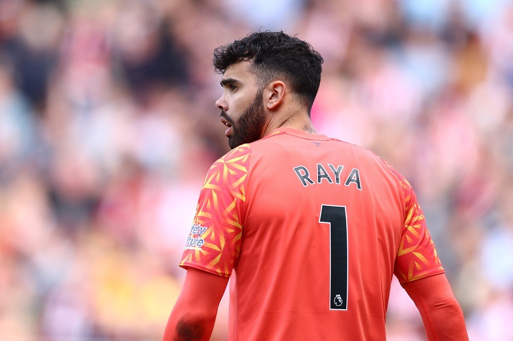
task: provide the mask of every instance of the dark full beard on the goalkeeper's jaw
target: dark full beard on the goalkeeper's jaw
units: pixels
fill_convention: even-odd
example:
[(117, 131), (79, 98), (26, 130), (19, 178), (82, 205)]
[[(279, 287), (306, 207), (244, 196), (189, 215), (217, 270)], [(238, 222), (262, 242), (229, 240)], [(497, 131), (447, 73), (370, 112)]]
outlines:
[(235, 148), (244, 143), (251, 143), (260, 140), (260, 134), (265, 124), (266, 115), (264, 103), (262, 102), (263, 91), (258, 91), (253, 102), (248, 108), (234, 121), (226, 112), (221, 112), (221, 117), (231, 124), (233, 133), (228, 137), (228, 145)]

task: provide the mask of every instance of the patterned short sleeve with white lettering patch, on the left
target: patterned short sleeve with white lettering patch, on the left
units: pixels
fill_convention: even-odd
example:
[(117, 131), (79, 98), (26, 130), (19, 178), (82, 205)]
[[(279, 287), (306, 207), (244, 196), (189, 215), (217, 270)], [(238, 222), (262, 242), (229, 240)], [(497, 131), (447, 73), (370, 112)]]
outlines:
[(180, 266), (230, 276), (241, 248), (251, 148), (243, 144), (210, 167)]

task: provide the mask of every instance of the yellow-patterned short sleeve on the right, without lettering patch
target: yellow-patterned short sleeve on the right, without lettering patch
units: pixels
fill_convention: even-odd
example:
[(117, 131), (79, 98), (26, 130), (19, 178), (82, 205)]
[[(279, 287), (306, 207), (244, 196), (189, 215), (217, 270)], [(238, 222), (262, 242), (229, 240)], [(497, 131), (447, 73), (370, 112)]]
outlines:
[(444, 273), (435, 243), (429, 235), (424, 213), (417, 202), (413, 188), (401, 174), (388, 163), (386, 165), (399, 178), (405, 201), (404, 227), (394, 265), (394, 274), (400, 283), (406, 283)]

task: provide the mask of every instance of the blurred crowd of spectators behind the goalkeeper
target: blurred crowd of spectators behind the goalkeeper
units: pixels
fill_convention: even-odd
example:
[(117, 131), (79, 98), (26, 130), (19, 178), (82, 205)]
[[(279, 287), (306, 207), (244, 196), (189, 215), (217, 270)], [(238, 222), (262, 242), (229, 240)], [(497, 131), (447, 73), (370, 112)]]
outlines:
[[(513, 339), (508, 0), (0, 0), (0, 339), (160, 339), (228, 151), (212, 50), (260, 28), (323, 55), (317, 131), (416, 189), (470, 339)], [(387, 339), (424, 335), (394, 281)]]

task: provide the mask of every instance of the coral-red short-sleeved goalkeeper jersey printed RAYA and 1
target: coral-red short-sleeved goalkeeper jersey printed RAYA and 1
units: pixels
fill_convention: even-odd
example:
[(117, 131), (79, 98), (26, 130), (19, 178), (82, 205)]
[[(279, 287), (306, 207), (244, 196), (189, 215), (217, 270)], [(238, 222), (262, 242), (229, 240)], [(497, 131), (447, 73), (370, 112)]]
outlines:
[(290, 128), (211, 166), (180, 266), (232, 276), (229, 338), (244, 341), (385, 339), (392, 274), (444, 272), (398, 172)]

